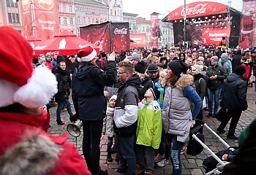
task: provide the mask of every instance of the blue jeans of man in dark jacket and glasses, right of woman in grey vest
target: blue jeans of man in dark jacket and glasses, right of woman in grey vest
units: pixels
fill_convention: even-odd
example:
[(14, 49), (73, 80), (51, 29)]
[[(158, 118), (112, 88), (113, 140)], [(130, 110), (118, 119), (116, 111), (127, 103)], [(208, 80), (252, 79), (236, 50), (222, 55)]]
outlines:
[[(219, 96), (222, 89), (212, 90), (207, 88), (209, 114), (217, 114), (219, 110)], [(214, 106), (214, 110), (213, 110)], [(213, 113), (214, 112), (214, 113)]]

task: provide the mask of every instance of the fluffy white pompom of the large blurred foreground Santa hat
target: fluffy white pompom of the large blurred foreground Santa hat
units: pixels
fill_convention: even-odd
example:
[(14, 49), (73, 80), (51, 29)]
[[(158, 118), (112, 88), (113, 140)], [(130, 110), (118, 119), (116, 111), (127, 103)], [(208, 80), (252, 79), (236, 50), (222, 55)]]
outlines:
[(34, 69), (26, 85), (20, 87), (14, 94), (14, 101), (29, 108), (39, 108), (48, 104), (57, 92), (57, 81), (54, 74), (43, 66)]

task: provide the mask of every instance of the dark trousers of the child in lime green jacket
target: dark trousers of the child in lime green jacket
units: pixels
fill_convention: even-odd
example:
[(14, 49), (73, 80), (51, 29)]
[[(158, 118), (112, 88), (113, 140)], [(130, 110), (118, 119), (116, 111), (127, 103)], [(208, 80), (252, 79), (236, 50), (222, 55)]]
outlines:
[[(136, 160), (140, 167), (154, 170), (154, 148), (136, 144)], [(145, 161), (146, 160), (146, 161)]]

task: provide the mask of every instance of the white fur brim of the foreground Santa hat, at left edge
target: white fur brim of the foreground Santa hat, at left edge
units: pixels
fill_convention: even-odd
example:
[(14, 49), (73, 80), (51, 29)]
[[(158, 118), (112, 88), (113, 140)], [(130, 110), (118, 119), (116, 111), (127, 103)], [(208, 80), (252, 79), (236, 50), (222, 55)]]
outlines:
[(18, 88), (18, 85), (8, 82), (5, 79), (0, 79), (0, 107), (14, 104), (13, 94)]

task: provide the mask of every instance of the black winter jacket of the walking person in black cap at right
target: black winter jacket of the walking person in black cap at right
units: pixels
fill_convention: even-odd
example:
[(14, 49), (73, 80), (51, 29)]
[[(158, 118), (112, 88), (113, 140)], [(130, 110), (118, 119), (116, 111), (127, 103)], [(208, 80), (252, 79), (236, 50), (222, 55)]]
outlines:
[(236, 73), (230, 74), (223, 83), (220, 106), (231, 110), (246, 110), (246, 92), (247, 85), (243, 77)]

